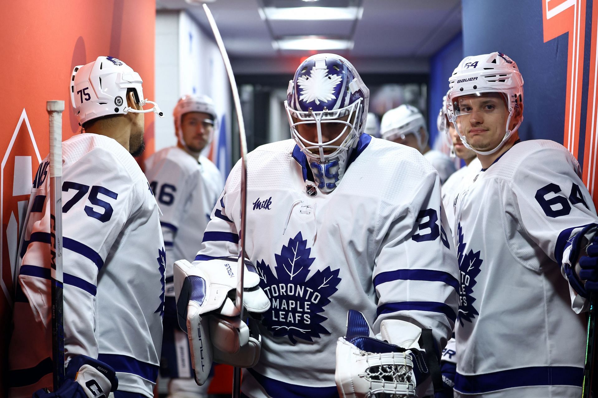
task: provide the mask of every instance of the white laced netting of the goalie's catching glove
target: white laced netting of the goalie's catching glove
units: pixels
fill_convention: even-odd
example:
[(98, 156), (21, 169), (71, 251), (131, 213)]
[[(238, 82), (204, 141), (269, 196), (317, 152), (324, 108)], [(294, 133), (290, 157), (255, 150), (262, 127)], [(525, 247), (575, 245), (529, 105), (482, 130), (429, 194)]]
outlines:
[[(359, 375), (370, 382), (370, 391), (366, 394), (366, 398), (415, 396), (413, 360), (408, 353), (380, 354), (359, 350), (358, 355), (364, 357), (367, 363), (365, 372)], [(419, 363), (419, 365), (421, 364)]]

